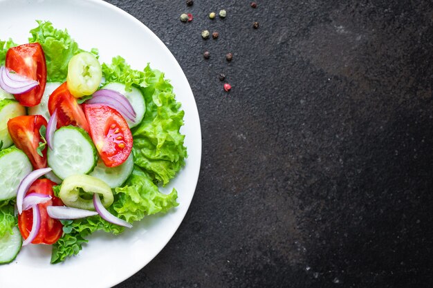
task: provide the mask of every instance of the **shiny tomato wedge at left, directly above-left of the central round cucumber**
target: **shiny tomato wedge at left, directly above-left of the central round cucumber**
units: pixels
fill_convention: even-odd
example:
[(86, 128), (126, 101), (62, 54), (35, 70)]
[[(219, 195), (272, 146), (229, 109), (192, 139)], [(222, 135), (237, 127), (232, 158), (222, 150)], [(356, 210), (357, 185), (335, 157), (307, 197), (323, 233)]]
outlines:
[(8, 131), (12, 141), (26, 153), (34, 169), (46, 167), (46, 146), (41, 151), (42, 156), (37, 153), (39, 142), (42, 142), (39, 132), (42, 126), (47, 126), (46, 119), (42, 115), (18, 116), (8, 121)]

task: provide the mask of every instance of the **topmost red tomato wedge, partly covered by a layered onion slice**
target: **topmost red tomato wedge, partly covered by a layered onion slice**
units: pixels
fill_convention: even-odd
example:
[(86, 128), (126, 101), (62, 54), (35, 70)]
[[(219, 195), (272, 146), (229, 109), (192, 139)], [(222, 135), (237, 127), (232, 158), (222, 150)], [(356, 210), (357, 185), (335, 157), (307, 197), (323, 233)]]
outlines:
[(39, 85), (26, 93), (15, 94), (23, 106), (35, 106), (41, 102), (46, 84), (46, 61), (39, 43), (24, 44), (6, 52), (6, 67), (20, 75), (39, 81)]

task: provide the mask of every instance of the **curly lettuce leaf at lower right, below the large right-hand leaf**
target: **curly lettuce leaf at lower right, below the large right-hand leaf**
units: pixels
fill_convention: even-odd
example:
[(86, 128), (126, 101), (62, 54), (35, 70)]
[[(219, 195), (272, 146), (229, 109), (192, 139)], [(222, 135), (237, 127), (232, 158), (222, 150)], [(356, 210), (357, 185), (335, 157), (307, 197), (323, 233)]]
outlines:
[(115, 191), (113, 210), (119, 218), (130, 223), (142, 220), (145, 215), (165, 213), (178, 206), (176, 189), (169, 194), (160, 193), (149, 174), (138, 167), (134, 167), (127, 185), (118, 187)]

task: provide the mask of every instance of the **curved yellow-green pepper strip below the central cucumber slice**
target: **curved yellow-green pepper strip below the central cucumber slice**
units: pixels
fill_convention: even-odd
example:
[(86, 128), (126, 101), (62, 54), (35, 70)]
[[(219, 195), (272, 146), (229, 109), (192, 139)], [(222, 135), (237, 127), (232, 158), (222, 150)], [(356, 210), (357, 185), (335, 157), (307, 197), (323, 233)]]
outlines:
[[(84, 193), (88, 193), (91, 199), (80, 197), (80, 188)], [(102, 197), (101, 202), (104, 207), (109, 207), (113, 203), (113, 192), (110, 186), (104, 181), (89, 175), (71, 175), (63, 180), (59, 197), (68, 207), (95, 210), (93, 206), (93, 193), (98, 193)]]

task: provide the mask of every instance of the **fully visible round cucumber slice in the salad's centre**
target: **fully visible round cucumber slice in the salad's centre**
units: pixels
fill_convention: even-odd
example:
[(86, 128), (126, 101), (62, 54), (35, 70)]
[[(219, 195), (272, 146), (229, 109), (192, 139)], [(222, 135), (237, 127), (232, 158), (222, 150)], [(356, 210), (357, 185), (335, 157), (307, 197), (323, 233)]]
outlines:
[(48, 148), (48, 166), (60, 179), (93, 171), (98, 151), (82, 128), (64, 126), (55, 131), (53, 150)]

